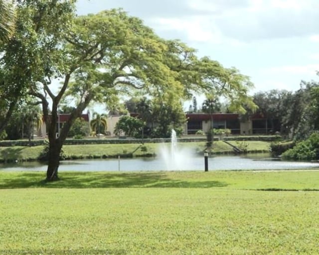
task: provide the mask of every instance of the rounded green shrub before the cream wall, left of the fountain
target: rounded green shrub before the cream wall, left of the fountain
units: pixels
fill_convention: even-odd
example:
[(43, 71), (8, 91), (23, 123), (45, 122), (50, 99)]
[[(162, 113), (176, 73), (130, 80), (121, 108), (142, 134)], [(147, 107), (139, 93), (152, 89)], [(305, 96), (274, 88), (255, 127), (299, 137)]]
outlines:
[(136, 136), (138, 135), (144, 124), (141, 120), (131, 117), (131, 116), (123, 116), (115, 125), (114, 133), (116, 135), (120, 135), (122, 132), (127, 136)]

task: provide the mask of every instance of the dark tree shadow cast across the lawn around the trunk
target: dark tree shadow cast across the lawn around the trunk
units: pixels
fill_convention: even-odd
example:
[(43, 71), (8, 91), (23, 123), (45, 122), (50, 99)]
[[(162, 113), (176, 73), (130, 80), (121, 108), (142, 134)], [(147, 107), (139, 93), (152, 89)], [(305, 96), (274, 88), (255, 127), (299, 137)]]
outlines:
[(18, 188), (213, 188), (228, 184), (219, 181), (192, 181), (168, 178), (163, 172), (60, 173), (56, 182), (43, 181), (43, 173), (23, 173), (0, 180), (0, 189)]

